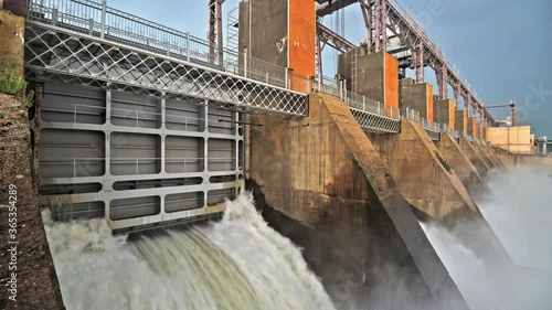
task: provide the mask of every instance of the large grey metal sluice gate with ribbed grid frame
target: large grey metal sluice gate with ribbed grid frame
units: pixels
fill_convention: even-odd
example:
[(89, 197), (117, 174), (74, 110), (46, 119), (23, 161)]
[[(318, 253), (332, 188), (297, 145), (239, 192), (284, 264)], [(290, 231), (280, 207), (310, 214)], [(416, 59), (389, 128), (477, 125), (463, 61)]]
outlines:
[[(235, 111), (225, 115), (231, 130), (211, 132), (210, 118), (217, 116), (206, 101), (173, 101), (169, 110), (185, 111), (194, 126), (168, 129), (164, 97), (52, 82), (41, 93), (32, 122), (35, 161), (41, 204), (55, 206), (55, 218), (105, 216), (113, 229), (195, 221), (222, 211), (210, 205), (221, 201), (211, 192), (233, 195), (243, 185), (243, 125)], [(126, 113), (114, 114), (121, 101)], [(149, 111), (152, 103), (160, 113)], [(141, 119), (151, 115), (153, 128)], [(132, 121), (113, 122), (126, 116)]]

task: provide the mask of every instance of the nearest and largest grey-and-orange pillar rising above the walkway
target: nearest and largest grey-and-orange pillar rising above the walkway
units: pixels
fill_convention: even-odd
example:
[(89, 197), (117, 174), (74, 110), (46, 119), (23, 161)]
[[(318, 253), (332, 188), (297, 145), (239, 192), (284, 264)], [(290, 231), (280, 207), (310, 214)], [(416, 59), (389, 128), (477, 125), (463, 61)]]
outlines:
[[(240, 4), (240, 53), (275, 64), (275, 78), (305, 93), (316, 71), (316, 12), (311, 0), (250, 0)], [(255, 70), (254, 63), (248, 70)], [(287, 71), (287, 72), (286, 72)]]

